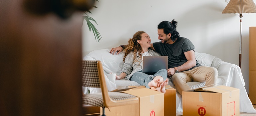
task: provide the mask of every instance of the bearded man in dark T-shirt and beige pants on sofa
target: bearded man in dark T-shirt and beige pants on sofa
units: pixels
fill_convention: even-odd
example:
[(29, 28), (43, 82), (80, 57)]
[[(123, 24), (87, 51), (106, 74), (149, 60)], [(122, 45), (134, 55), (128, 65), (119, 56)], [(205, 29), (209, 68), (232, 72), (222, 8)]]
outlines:
[[(177, 21), (163, 21), (158, 25), (158, 39), (151, 43), (151, 48), (162, 56), (168, 56), (168, 78), (177, 91), (190, 90), (187, 82), (205, 82), (205, 86), (217, 83), (218, 72), (214, 67), (201, 66), (195, 59), (194, 45), (176, 30)], [(110, 53), (119, 54), (125, 45), (112, 48)]]

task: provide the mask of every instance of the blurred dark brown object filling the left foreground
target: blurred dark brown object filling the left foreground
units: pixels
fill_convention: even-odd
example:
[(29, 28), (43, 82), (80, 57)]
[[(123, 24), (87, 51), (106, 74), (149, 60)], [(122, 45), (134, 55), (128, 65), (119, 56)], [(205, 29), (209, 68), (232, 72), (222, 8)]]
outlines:
[(0, 1), (0, 116), (81, 115), (81, 11), (93, 4)]

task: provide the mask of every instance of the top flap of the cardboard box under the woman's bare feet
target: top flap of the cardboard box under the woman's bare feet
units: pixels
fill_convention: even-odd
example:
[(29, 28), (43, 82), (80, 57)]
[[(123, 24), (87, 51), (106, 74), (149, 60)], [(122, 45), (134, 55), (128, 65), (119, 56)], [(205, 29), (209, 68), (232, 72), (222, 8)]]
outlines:
[(158, 92), (156, 90), (152, 90), (152, 89), (149, 89), (149, 88), (141, 88), (141, 89), (135, 89), (135, 90), (122, 91), (122, 92), (131, 94), (131, 95), (134, 95), (134, 96), (137, 96), (137, 97), (164, 94), (162, 92)]

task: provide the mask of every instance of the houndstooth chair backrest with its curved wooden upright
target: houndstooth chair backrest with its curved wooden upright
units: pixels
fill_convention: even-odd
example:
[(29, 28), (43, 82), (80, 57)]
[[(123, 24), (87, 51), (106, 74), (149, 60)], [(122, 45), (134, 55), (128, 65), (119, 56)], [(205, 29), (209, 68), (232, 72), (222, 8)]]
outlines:
[(103, 67), (100, 61), (82, 60), (82, 86), (98, 88), (100, 87), (103, 101), (110, 101)]

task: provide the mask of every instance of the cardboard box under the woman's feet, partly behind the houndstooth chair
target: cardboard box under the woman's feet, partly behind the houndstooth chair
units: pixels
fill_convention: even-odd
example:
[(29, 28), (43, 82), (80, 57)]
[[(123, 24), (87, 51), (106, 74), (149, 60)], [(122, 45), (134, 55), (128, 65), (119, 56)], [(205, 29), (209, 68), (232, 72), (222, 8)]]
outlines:
[(139, 103), (105, 108), (107, 116), (164, 116), (164, 93), (144, 87), (122, 92), (139, 97)]

